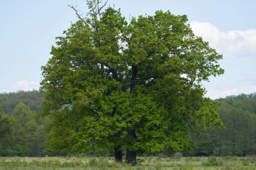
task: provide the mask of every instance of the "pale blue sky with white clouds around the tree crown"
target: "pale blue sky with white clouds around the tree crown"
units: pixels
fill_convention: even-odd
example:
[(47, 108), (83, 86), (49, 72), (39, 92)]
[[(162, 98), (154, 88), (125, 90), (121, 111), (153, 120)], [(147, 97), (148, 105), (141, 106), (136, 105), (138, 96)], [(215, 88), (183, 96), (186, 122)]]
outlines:
[[(157, 10), (187, 15), (197, 36), (223, 59), (224, 75), (204, 82), (216, 99), (256, 92), (255, 0), (109, 0), (123, 15), (154, 15)], [(51, 58), (55, 38), (77, 21), (67, 5), (86, 15), (85, 0), (9, 0), (0, 3), (0, 93), (38, 90), (40, 67)]]

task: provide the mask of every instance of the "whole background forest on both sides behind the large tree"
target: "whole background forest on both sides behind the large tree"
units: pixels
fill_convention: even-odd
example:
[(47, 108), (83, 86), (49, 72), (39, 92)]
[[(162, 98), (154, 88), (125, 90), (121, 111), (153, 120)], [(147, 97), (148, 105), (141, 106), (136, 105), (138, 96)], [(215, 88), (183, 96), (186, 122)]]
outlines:
[[(73, 155), (54, 153), (47, 148), (47, 126), (51, 119), (42, 118), (39, 91), (0, 94), (0, 156)], [(225, 129), (210, 128), (191, 133), (194, 148), (189, 156), (246, 156), (256, 153), (256, 93), (216, 99)], [(165, 153), (172, 153), (166, 151)], [(85, 155), (88, 153), (84, 153)], [(112, 156), (111, 151), (94, 155)]]

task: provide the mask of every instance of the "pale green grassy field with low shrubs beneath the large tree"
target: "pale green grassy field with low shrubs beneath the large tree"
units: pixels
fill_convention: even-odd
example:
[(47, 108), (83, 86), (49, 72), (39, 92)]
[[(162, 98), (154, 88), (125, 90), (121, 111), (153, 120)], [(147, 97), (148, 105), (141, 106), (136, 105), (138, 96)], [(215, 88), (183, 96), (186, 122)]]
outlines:
[(104, 157), (0, 157), (2, 169), (173, 169), (200, 170), (256, 169), (256, 158), (245, 157), (139, 157), (135, 167), (126, 163), (116, 163), (113, 158)]

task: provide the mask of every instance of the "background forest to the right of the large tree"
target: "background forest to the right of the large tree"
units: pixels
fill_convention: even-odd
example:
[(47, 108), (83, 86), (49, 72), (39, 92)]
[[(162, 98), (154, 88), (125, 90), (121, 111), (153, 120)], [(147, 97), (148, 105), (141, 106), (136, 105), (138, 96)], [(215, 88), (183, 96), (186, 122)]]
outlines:
[(193, 135), (195, 155), (245, 156), (256, 152), (256, 95), (229, 96), (220, 103), (220, 119), (226, 126)]

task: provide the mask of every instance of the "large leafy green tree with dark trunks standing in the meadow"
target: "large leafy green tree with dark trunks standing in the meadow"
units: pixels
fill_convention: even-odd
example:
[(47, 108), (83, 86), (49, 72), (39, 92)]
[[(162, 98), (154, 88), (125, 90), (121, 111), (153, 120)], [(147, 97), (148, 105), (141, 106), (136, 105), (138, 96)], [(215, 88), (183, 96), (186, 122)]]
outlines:
[(195, 127), (222, 126), (201, 85), (224, 73), (222, 56), (193, 34), (187, 17), (156, 11), (127, 22), (120, 9), (101, 12), (99, 3), (88, 1), (85, 19), (77, 13), (42, 67), (51, 149), (113, 148), (122, 161), (125, 148), (136, 163), (137, 153), (190, 148)]

